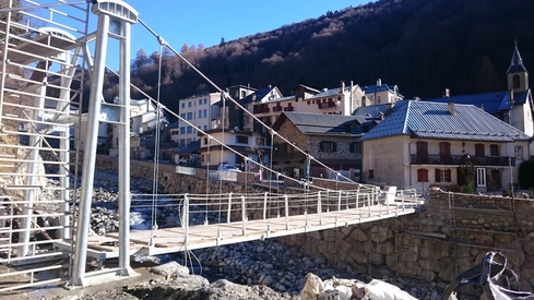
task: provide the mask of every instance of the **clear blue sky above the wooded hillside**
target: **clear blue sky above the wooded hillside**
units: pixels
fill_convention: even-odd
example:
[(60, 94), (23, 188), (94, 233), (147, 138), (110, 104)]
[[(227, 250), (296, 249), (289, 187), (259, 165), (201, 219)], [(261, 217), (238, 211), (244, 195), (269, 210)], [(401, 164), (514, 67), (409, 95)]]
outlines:
[[(218, 45), (239, 37), (269, 32), (283, 25), (316, 19), (328, 11), (339, 11), (373, 2), (369, 0), (270, 0), (270, 1), (182, 1), (126, 0), (139, 17), (170, 47), (179, 51), (183, 44)], [(139, 49), (147, 55), (158, 44), (141, 24), (132, 26), (132, 59)]]

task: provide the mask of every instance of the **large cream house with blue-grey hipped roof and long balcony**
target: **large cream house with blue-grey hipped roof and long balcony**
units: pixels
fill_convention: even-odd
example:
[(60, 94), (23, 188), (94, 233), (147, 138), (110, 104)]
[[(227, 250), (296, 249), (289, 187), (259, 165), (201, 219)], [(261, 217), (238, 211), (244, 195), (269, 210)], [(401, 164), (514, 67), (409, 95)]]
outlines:
[(400, 101), (360, 137), (365, 182), (401, 189), (466, 185), (500, 190), (518, 182), (530, 136), (472, 105)]

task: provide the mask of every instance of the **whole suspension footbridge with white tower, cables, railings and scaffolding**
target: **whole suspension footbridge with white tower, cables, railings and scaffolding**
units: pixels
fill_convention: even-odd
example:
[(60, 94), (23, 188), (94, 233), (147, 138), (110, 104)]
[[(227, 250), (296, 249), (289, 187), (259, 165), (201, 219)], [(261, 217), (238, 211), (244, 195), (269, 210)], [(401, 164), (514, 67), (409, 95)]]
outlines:
[[(173, 253), (351, 226), (411, 214), (423, 204), (415, 191), (384, 192), (355, 182), (354, 189), (340, 191), (132, 195), (130, 88), (137, 87), (129, 81), (131, 26), (141, 23), (154, 34), (161, 51), (167, 47), (181, 58), (180, 53), (124, 1), (7, 2), (0, 8), (0, 292), (59, 283), (84, 286), (91, 276), (86, 271), (90, 260), (103, 264), (118, 259), (117, 275), (130, 276), (133, 254)], [(105, 63), (111, 56), (109, 39), (119, 44), (115, 101), (103, 96)], [(233, 100), (205, 80), (226, 100)], [(90, 91), (85, 91), (86, 82), (91, 82)], [(162, 107), (158, 99), (150, 99)], [(84, 104), (88, 104), (86, 112)], [(173, 111), (167, 113), (188, 123)], [(118, 129), (119, 231), (88, 236), (99, 123)], [(269, 132), (277, 134), (270, 128)], [(155, 160), (157, 170), (157, 157)], [(161, 200), (154, 202), (154, 197)], [(131, 209), (147, 209), (157, 217), (157, 209), (164, 207), (176, 209), (179, 224), (130, 230)], [(39, 276), (47, 272), (57, 272), (57, 276)], [(11, 280), (14, 276), (26, 280)]]

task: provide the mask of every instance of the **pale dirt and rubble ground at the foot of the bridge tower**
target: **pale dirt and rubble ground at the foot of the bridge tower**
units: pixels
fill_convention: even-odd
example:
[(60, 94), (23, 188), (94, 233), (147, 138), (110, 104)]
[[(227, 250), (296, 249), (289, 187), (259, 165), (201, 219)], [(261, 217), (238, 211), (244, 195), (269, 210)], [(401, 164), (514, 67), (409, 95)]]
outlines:
[(84, 288), (52, 286), (39, 289), (19, 290), (0, 295), (5, 300), (134, 300), (134, 299), (176, 299), (176, 300), (222, 300), (222, 299), (298, 299), (280, 293), (265, 286), (241, 286), (221, 279), (209, 283), (198, 275), (163, 276), (151, 272), (152, 266), (132, 265), (135, 276), (120, 278), (110, 275), (103, 283)]

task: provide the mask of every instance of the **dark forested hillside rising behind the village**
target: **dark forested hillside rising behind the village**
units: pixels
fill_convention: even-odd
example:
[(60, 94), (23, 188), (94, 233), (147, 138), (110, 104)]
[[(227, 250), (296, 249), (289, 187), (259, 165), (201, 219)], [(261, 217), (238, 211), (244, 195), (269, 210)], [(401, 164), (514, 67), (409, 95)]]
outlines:
[[(290, 95), (299, 83), (322, 88), (380, 77), (406, 98), (440, 96), (446, 87), (480, 93), (506, 88), (514, 40), (534, 70), (533, 14), (532, 0), (381, 0), (211, 48), (186, 45), (181, 55), (223, 88), (271, 84)], [(154, 96), (158, 59), (140, 49), (132, 60), (132, 83)], [(210, 89), (171, 52), (162, 64), (161, 98), (175, 111), (177, 99)]]

